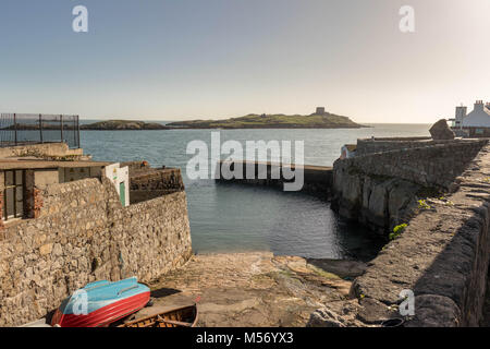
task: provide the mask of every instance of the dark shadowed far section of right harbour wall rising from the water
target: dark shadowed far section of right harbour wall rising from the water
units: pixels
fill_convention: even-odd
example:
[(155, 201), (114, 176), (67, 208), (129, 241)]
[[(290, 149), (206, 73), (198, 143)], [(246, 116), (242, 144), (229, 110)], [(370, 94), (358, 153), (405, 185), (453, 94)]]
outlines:
[(332, 207), (373, 230), (390, 231), (413, 216), (419, 194), (454, 191), (456, 177), (485, 144), (448, 143), (336, 160)]

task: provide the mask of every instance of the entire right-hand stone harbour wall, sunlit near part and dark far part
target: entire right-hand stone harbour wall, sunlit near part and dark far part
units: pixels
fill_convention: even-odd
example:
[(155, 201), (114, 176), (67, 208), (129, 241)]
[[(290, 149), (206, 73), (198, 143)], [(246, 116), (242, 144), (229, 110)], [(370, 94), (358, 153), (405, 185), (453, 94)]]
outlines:
[[(396, 140), (388, 148), (384, 141), (383, 149), (335, 161), (331, 179), (323, 178), (342, 216), (380, 230), (387, 240), (395, 225), (406, 225), (354, 280), (345, 310), (366, 326), (379, 326), (403, 317), (401, 294), (412, 291), (415, 313), (404, 326), (478, 326), (490, 258), (488, 141), (411, 140), (415, 145), (401, 147), (405, 141)], [(346, 323), (326, 308), (313, 314), (322, 317), (317, 325)]]

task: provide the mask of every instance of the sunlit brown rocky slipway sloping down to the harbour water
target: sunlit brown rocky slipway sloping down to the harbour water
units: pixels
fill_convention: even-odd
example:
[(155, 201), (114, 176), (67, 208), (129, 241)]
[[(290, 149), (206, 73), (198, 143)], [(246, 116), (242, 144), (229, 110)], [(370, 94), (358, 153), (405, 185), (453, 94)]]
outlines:
[[(270, 252), (198, 254), (152, 282), (151, 289), (154, 306), (180, 306), (200, 296), (199, 326), (303, 327), (323, 304), (336, 316), (344, 316), (340, 303), (345, 296), (334, 287), (338, 281), (350, 284), (317, 273), (297, 256)], [(142, 310), (136, 316), (151, 312)], [(336, 320), (343, 327), (350, 324), (345, 317), (344, 322)]]

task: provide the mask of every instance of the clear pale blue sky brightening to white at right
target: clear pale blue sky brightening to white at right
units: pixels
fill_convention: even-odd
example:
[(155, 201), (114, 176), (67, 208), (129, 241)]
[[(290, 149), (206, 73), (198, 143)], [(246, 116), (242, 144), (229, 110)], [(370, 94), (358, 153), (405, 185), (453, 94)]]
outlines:
[[(73, 8), (88, 10), (75, 33)], [(402, 33), (402, 5), (415, 32)], [(488, 0), (2, 0), (0, 111), (431, 123), (490, 101)]]

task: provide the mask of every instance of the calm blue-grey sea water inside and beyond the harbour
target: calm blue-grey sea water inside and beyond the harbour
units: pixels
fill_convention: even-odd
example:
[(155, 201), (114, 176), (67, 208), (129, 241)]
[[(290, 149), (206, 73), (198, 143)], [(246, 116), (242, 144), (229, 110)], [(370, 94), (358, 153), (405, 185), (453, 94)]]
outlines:
[[(85, 121), (87, 122), (87, 121)], [(331, 166), (340, 148), (363, 137), (429, 135), (429, 124), (370, 124), (358, 130), (222, 130), (222, 142), (304, 141), (305, 164)], [(148, 160), (180, 167), (186, 184), (193, 248), (197, 253), (272, 251), (316, 258), (370, 258), (381, 241), (340, 219), (327, 202), (275, 189), (189, 180), (191, 141), (210, 144), (210, 130), (82, 131), (95, 160)], [(216, 131), (215, 131), (216, 132)]]

